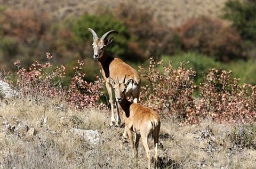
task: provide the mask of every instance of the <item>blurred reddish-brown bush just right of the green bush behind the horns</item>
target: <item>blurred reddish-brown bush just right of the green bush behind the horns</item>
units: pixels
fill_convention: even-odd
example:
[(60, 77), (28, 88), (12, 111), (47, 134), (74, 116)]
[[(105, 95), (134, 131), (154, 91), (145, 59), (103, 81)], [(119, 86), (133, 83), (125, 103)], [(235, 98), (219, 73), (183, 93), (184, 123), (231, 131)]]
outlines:
[(124, 25), (139, 42), (146, 56), (157, 59), (163, 54), (174, 54), (181, 48), (178, 34), (171, 28), (153, 19), (153, 13), (134, 3), (117, 6), (113, 13), (124, 21)]

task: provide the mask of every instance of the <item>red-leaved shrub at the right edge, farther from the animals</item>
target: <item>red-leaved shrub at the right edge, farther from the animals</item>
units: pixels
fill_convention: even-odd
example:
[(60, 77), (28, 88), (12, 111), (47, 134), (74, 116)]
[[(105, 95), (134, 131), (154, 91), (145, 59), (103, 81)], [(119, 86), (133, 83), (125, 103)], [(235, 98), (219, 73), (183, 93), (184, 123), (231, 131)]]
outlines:
[(255, 86), (239, 86), (238, 79), (231, 76), (231, 71), (210, 69), (199, 85), (200, 101), (196, 111), (202, 117), (220, 122), (255, 122)]

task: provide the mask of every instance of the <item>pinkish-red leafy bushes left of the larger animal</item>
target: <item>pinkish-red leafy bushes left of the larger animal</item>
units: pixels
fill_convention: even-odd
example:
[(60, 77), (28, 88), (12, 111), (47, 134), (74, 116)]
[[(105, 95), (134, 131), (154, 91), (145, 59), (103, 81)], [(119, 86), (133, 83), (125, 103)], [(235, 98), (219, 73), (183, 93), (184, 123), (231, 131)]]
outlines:
[[(47, 53), (47, 58), (52, 55)], [(78, 66), (74, 67), (75, 75), (70, 85), (63, 86), (63, 78), (66, 76), (66, 68), (61, 65), (52, 69), (50, 62), (45, 64), (35, 61), (28, 69), (20, 67), (20, 61), (15, 61), (17, 66), (17, 87), (21, 97), (40, 101), (43, 98), (57, 98), (60, 102), (67, 103), (75, 109), (106, 108), (99, 103), (102, 92), (102, 79), (89, 83), (84, 80), (85, 74), (81, 73), (83, 62), (78, 60)]]

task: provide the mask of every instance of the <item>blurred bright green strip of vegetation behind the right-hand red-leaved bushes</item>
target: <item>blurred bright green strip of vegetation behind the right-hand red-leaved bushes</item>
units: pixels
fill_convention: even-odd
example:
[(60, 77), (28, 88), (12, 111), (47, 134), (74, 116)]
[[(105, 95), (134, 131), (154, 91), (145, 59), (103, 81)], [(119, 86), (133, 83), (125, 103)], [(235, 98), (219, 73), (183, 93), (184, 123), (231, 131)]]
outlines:
[(177, 69), (180, 62), (188, 62), (185, 68), (193, 68), (196, 71), (195, 83), (199, 84), (202, 82), (204, 74), (210, 68), (223, 68), (225, 70), (231, 70), (233, 77), (239, 78), (239, 84), (256, 84), (256, 66), (254, 60), (239, 60), (225, 64), (222, 62), (215, 61), (213, 58), (209, 58), (206, 55), (196, 53), (179, 53), (173, 56), (162, 56), (164, 63), (167, 64), (169, 60), (172, 61), (172, 66)]

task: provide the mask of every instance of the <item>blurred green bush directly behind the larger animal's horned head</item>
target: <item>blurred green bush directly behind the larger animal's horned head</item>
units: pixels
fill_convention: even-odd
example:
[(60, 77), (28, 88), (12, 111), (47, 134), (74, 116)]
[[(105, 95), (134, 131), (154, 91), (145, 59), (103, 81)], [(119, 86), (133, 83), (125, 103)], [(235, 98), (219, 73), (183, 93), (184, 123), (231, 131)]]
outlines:
[(109, 30), (117, 30), (118, 35), (115, 36), (114, 43), (108, 47), (110, 54), (118, 55), (118, 57), (127, 57), (129, 49), (127, 43), (131, 41), (131, 35), (124, 26), (122, 21), (116, 20), (112, 15), (88, 15), (84, 14), (74, 25), (74, 34), (78, 39), (85, 42), (92, 42), (92, 35), (87, 28), (92, 28), (98, 37), (101, 37)]

